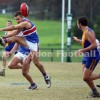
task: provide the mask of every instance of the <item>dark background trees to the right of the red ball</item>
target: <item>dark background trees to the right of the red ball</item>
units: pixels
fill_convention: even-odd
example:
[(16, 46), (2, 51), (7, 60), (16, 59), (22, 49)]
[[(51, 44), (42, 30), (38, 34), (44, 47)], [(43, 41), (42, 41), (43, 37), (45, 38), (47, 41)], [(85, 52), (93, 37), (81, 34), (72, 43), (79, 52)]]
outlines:
[[(23, 1), (23, 0), (22, 0)], [(39, 19), (61, 19), (62, 0), (26, 0), (30, 13)], [(71, 0), (73, 17), (85, 15), (94, 20), (100, 15), (100, 0)], [(65, 13), (68, 12), (68, 0), (65, 0)], [(66, 15), (65, 15), (66, 17)]]

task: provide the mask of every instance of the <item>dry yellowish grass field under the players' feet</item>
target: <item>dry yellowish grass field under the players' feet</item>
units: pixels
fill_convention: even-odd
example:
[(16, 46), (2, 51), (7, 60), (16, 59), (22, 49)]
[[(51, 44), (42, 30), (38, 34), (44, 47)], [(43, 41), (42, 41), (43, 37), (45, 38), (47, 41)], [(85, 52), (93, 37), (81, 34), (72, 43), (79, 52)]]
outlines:
[[(6, 69), (0, 76), (0, 100), (99, 100), (86, 98), (90, 89), (82, 80), (81, 63), (42, 62), (52, 77), (52, 87), (47, 88), (41, 73), (31, 64), (30, 74), (38, 85), (37, 90), (27, 91), (29, 83), (21, 70)], [(1, 63), (0, 63), (1, 65)], [(98, 64), (95, 73), (100, 73)], [(100, 80), (95, 81), (100, 84)], [(100, 92), (100, 88), (98, 88)]]

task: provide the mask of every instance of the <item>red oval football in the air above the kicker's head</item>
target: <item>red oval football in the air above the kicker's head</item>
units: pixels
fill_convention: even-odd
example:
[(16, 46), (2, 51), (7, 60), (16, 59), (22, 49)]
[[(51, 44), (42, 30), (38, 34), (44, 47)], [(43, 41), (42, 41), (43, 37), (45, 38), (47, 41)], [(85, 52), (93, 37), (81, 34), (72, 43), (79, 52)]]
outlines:
[(24, 17), (27, 17), (29, 15), (29, 7), (26, 3), (22, 3), (20, 6), (20, 12)]

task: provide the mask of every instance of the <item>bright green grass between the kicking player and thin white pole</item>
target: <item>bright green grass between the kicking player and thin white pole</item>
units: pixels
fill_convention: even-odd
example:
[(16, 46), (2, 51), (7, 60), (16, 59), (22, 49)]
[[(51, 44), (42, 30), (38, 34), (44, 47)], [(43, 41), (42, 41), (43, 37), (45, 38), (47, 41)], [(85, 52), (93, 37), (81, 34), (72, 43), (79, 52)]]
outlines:
[(39, 21), (36, 24), (40, 36), (40, 46), (61, 44), (61, 22)]

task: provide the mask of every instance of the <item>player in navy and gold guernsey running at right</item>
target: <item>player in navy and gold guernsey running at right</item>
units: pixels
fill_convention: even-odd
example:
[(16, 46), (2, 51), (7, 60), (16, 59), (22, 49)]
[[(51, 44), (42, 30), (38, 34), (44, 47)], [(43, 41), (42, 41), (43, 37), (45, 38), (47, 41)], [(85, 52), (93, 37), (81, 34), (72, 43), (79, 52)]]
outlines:
[(82, 49), (77, 51), (77, 55), (81, 55), (84, 53), (84, 57), (82, 60), (83, 65), (83, 80), (87, 83), (87, 85), (92, 90), (90, 96), (92, 97), (100, 97), (100, 93), (97, 91), (93, 80), (99, 79), (100, 74), (92, 74), (96, 65), (99, 62), (99, 52), (97, 50), (97, 43), (95, 34), (92, 29), (87, 26), (87, 18), (80, 17), (77, 20), (77, 26), (80, 30), (83, 31), (82, 40), (77, 37), (73, 37), (73, 39), (82, 44)]

